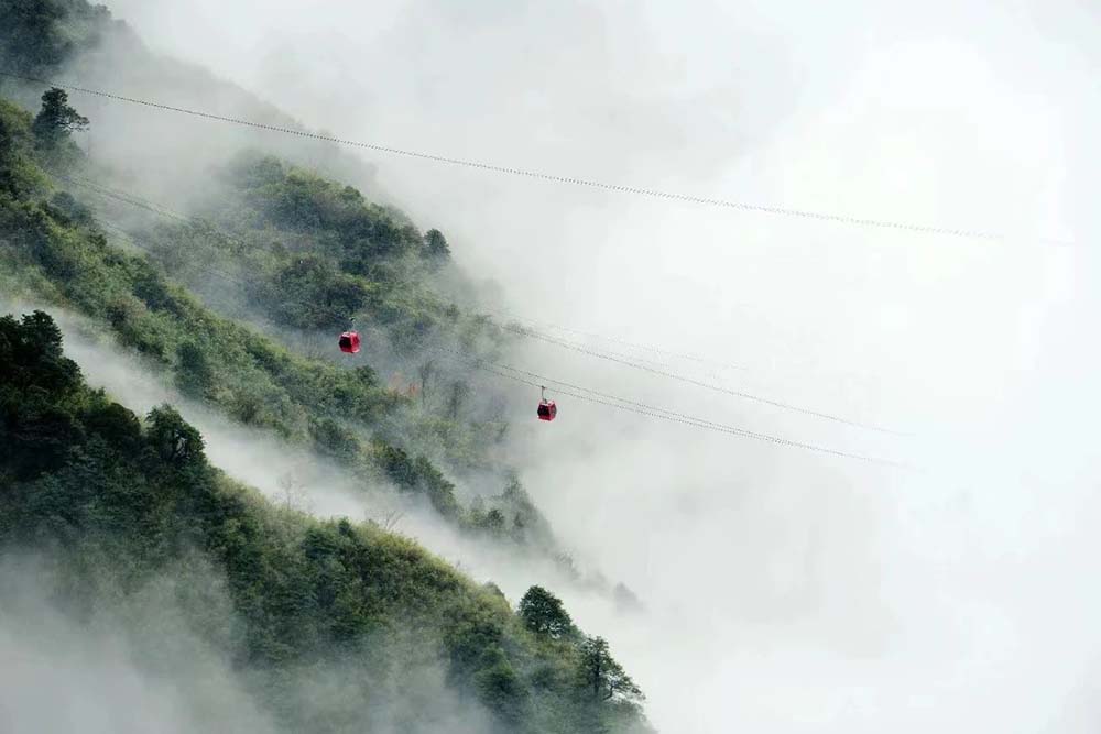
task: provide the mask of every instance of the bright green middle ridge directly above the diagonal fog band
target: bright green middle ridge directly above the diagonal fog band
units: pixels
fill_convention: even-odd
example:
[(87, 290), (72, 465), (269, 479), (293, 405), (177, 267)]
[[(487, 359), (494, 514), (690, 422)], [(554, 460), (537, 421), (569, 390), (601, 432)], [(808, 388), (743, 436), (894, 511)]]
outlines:
[[(224, 409), (242, 424), (271, 428), (314, 446), (357, 472), (364, 486), (386, 479), (404, 491), (424, 494), (437, 512), (460, 527), (509, 532), (521, 541), (535, 533), (533, 539), (552, 543), (545, 522), (519, 486), (505, 493), (509, 484), (501, 482), (498, 500), (491, 497), (490, 511), (498, 513), (489, 518), (487, 513), (460, 507), (453, 483), (424, 453), (424, 447), (447, 446), (459, 463), (464, 447), (473, 447), (471, 453), (478, 447), (484, 449), (500, 426), (459, 421), (428, 410), (425, 401), (381, 384), (366, 360), (348, 369), (307, 359), (211, 313), (151, 264), (146, 253), (128, 254), (112, 247), (91, 210), (48, 183), (50, 173), (37, 160), (65, 178), (65, 172), (83, 165), (83, 155), (72, 141), (65, 136), (43, 140), (34, 132), (32, 117), (10, 102), (0, 102), (0, 124), (8, 141), (2, 154), (11, 197), (0, 211), (0, 226), (10, 245), (3, 258), (13, 287), (15, 281), (31, 284), (32, 292), (99, 320), (120, 343), (162, 364), (184, 394)], [(58, 186), (64, 186), (64, 179)], [(189, 229), (166, 229), (161, 238), (174, 238), (172, 252), (194, 253), (194, 260), (184, 254), (176, 255), (177, 260), (209, 263), (212, 256), (203, 238), (189, 233)], [(165, 239), (160, 242), (165, 252)], [(248, 263), (260, 256), (253, 251), (243, 253), (241, 270), (249, 270)], [(293, 310), (294, 303), (306, 309), (309, 304), (333, 303), (345, 285), (356, 293), (369, 287), (364, 280), (327, 266), (320, 256), (307, 261), (284, 253), (271, 261), (266, 272), (255, 269), (255, 287), (279, 294), (287, 309)], [(319, 265), (309, 271), (305, 262)], [(338, 296), (318, 294), (328, 289)], [(277, 308), (271, 313), (279, 318)], [(437, 453), (444, 456), (443, 450)]]

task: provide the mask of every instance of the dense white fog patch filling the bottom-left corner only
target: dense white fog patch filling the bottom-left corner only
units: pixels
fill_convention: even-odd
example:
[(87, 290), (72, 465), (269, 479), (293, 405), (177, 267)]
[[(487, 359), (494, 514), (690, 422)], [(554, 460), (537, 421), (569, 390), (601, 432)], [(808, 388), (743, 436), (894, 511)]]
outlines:
[[(0, 712), (8, 731), (275, 731), (226, 656), (187, 629), (173, 587), (183, 569), (137, 590), (129, 604), (101, 605), (79, 620), (57, 602), (56, 562), (6, 555), (0, 563)], [(198, 587), (209, 582), (194, 574), (190, 581), (204, 596)], [(224, 602), (218, 611), (229, 628), (228, 600), (216, 593), (204, 601)]]

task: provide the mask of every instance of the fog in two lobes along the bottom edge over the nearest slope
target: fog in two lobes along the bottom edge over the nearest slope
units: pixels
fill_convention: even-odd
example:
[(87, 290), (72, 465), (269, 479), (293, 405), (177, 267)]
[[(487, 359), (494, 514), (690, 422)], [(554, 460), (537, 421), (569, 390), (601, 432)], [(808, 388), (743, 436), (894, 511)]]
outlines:
[(254, 692), (265, 687), (277, 687), (281, 704), (310, 728), (356, 721), (384, 734), (490, 730), (488, 714), (447, 686), (438, 640), (424, 634), (394, 629), (363, 640), (358, 659), (272, 678), (232, 659), (242, 625), (226, 579), (200, 554), (124, 592), (94, 572), (91, 599), (73, 599), (64, 568), (78, 562), (59, 552), (0, 562), (6, 731), (284, 731), (258, 706)]

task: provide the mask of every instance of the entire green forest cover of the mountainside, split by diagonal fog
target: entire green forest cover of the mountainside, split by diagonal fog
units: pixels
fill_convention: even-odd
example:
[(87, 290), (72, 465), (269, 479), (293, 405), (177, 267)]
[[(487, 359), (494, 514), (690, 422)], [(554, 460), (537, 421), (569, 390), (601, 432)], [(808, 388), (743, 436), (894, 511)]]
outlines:
[[(0, 62), (21, 75), (105, 44), (146, 53), (81, 0), (0, 0)], [(471, 365), (508, 340), (457, 305), (472, 286), (442, 232), (257, 149), (227, 151), (170, 209), (77, 145), (96, 120), (64, 90), (0, 90), (0, 295), (88, 317), (182, 395), (344, 467), (366, 500), (393, 486), (462, 533), (570, 565), (501, 456), (504, 398)], [(318, 352), (350, 325), (371, 360)], [(370, 727), (384, 708), (396, 731), (437, 731), (444, 714), (414, 693), (385, 706), (375, 693), (416, 688), (419, 658), (493, 731), (645, 728), (639, 688), (552, 592), (533, 587), (513, 611), (412, 540), (270, 504), (211, 467), (173, 407), (138, 417), (90, 390), (42, 311), (0, 320), (0, 552), (51, 558), (76, 620), (153, 579), (181, 598), (222, 579), (222, 606), (181, 613), (279, 727)], [(196, 563), (209, 573), (178, 570)], [(339, 695), (305, 683), (346, 677)]]

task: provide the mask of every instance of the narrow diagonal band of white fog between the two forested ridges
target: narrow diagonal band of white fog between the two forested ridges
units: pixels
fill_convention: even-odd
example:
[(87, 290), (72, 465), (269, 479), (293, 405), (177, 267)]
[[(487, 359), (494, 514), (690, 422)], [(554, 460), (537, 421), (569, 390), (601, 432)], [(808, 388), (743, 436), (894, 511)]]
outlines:
[[(55, 319), (66, 355), (80, 366), (91, 387), (102, 388), (138, 415), (171, 404), (199, 430), (205, 453), (215, 467), (281, 506), (317, 517), (370, 521), (413, 537), (476, 579), (492, 581), (513, 602), (533, 583), (592, 590), (599, 580), (599, 568), (577, 569), (581, 578), (573, 578), (543, 549), (525, 551), (512, 544), (464, 534), (419, 495), (400, 493), (389, 482), (372, 483), (323, 456), (282, 440), (274, 431), (225, 418), (183, 396), (155, 363), (119, 348), (84, 317), (41, 302), (0, 297), (0, 313), (29, 314), (35, 309)], [(604, 595), (599, 603), (610, 604), (611, 600)]]

